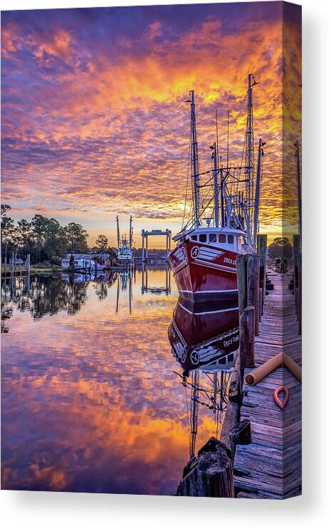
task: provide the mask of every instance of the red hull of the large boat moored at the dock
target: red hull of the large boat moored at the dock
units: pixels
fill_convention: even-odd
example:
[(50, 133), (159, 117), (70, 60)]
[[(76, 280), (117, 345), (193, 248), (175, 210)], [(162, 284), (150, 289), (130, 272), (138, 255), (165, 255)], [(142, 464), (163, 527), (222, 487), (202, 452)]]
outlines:
[(190, 302), (233, 297), (238, 293), (237, 255), (200, 242), (180, 242), (169, 254), (179, 296)]

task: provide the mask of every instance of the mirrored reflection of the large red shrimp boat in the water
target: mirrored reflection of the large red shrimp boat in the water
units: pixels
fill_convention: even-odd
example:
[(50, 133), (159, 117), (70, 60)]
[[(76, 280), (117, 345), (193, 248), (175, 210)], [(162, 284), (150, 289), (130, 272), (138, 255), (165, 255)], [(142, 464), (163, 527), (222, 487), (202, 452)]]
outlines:
[[(182, 366), (177, 373), (191, 391), (187, 404), (189, 455), (195, 455), (199, 408), (211, 409), (217, 437), (227, 404), (227, 387), (239, 345), (238, 295), (226, 292), (223, 299), (192, 304), (179, 297), (168, 329), (172, 354)], [(188, 400), (187, 400), (188, 402)]]

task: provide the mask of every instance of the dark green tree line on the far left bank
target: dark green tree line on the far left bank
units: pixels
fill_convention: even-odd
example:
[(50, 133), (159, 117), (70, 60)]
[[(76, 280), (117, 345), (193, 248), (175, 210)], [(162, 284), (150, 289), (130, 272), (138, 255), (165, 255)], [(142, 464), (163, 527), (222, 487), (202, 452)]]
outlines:
[(95, 246), (88, 247), (88, 232), (76, 222), (63, 226), (55, 218), (34, 215), (29, 222), (21, 219), (18, 222), (10, 217), (11, 206), (1, 204), (1, 259), (9, 262), (11, 252), (25, 259), (31, 255), (31, 263), (51, 262), (60, 265), (61, 258), (70, 253), (109, 253), (114, 256), (114, 249), (108, 247), (105, 235), (98, 235)]

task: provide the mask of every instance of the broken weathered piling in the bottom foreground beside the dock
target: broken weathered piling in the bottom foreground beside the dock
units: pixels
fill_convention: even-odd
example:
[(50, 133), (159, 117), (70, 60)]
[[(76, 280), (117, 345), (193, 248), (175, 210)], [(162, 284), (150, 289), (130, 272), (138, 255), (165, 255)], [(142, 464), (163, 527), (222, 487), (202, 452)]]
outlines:
[(224, 443), (211, 437), (191, 458), (176, 495), (234, 498), (231, 453)]

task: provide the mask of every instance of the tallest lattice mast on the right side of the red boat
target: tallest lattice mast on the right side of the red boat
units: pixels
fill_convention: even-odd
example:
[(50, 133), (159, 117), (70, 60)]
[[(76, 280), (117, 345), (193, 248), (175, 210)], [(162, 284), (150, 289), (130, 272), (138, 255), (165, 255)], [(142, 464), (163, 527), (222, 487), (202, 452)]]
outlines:
[(253, 128), (253, 86), (257, 85), (253, 73), (248, 73), (248, 91), (247, 91), (247, 120), (245, 135), (245, 180), (247, 191), (247, 236), (248, 244), (251, 240), (251, 217), (253, 206), (253, 171), (254, 171), (254, 128)]

